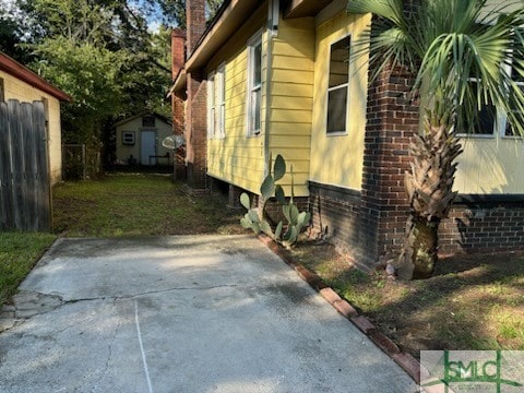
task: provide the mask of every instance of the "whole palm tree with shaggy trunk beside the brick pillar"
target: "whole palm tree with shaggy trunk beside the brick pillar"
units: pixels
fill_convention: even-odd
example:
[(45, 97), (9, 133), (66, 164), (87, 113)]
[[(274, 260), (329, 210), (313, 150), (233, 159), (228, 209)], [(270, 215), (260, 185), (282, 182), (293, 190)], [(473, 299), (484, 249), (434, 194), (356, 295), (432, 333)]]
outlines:
[[(414, 91), (428, 98), (424, 129), (410, 145), (406, 172), (410, 214), (396, 261), (404, 278), (431, 276), (438, 227), (453, 192), (457, 134), (474, 132), (479, 114), (505, 116), (524, 135), (524, 8), (521, 0), (349, 0), (350, 13), (372, 13), (366, 37), (370, 78), (407, 68)], [(493, 1), (490, 1), (493, 3)], [(364, 41), (362, 41), (364, 43)], [(362, 47), (364, 48), (364, 47)]]

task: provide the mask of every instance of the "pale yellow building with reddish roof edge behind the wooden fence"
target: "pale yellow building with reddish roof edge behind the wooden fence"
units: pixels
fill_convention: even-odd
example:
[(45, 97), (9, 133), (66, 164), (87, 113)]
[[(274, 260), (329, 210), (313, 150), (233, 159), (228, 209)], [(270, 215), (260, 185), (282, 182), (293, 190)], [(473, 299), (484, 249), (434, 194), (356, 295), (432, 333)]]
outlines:
[(0, 52), (0, 100), (43, 102), (46, 111), (51, 182), (62, 177), (60, 103), (71, 97), (36, 73)]

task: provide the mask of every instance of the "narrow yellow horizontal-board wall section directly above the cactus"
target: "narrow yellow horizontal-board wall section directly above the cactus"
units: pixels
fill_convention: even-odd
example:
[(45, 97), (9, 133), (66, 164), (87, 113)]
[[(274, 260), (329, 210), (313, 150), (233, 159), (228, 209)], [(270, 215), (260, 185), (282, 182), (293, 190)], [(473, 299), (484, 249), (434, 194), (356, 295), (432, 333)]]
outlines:
[(314, 80), (314, 19), (281, 20), (273, 41), (270, 151), (281, 154), (288, 174), (279, 181), (290, 194), (308, 196)]

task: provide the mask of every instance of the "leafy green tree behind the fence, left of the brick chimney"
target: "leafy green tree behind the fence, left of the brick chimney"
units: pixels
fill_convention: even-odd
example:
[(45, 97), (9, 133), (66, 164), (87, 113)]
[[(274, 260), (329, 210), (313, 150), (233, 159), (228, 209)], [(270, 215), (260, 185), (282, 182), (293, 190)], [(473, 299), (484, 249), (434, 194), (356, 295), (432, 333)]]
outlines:
[(85, 143), (98, 171), (107, 124), (143, 110), (169, 114), (169, 31), (147, 31), (142, 11), (127, 0), (19, 0), (29, 21), (29, 66), (69, 93), (62, 107), (67, 143)]

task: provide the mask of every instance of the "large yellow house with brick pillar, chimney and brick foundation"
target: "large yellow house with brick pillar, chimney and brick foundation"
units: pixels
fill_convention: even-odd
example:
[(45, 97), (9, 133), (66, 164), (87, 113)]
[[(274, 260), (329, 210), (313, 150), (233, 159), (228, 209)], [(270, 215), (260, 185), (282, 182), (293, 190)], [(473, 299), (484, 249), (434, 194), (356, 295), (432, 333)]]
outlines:
[[(174, 114), (186, 114), (174, 122), (184, 124), (189, 183), (225, 182), (231, 203), (242, 191), (257, 196), (269, 158), (282, 154), (314, 228), (357, 263), (398, 248), (420, 107), (410, 100), (412, 75), (368, 82), (367, 58), (355, 52), (371, 15), (347, 14), (346, 0), (226, 0), (205, 26), (203, 3), (188, 0), (187, 56), (174, 56)], [(183, 53), (182, 36), (174, 53)], [(503, 227), (524, 217), (524, 145), (498, 124), (464, 139), (444, 251), (484, 240), (524, 248), (522, 225)], [(289, 174), (281, 182), (286, 194), (290, 182)]]

